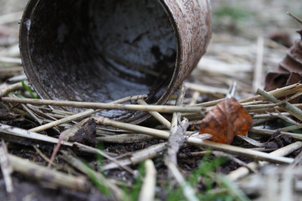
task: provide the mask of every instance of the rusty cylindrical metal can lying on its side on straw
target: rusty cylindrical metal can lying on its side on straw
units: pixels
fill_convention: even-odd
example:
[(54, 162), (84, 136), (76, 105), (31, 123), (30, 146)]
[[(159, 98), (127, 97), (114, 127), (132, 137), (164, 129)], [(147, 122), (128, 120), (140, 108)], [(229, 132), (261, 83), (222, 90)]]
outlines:
[[(149, 104), (161, 105), (196, 66), (210, 35), (209, 0), (30, 0), (20, 51), (44, 99), (111, 102), (148, 94)], [(149, 116), (98, 115), (132, 123)]]

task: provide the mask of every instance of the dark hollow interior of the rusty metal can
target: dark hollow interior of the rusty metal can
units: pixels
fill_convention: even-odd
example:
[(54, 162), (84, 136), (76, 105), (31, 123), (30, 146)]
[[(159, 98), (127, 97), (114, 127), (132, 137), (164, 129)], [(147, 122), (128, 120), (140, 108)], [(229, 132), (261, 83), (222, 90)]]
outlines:
[[(159, 1), (53, 0), (28, 9), (30, 64), (24, 68), (41, 97), (111, 102), (148, 94), (150, 104), (167, 99), (161, 97), (174, 72), (176, 41)], [(104, 111), (101, 116), (128, 113)]]

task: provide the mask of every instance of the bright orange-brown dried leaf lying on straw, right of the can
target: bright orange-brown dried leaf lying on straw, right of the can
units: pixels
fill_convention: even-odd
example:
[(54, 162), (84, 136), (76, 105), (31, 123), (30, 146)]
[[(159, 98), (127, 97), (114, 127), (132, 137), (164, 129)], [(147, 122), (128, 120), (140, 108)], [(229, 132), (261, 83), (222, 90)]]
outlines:
[(199, 134), (209, 133), (211, 140), (231, 144), (235, 135), (246, 135), (252, 123), (249, 112), (235, 98), (225, 99), (203, 119)]

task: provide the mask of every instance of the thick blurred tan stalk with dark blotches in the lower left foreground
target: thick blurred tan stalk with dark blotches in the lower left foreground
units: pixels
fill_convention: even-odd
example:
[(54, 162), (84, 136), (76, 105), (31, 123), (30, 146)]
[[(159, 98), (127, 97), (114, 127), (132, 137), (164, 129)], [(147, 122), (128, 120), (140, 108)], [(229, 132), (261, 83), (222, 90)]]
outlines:
[(8, 159), (14, 171), (27, 177), (47, 181), (58, 187), (65, 187), (81, 192), (90, 189), (90, 184), (85, 177), (76, 177), (55, 171), (11, 154), (8, 155)]

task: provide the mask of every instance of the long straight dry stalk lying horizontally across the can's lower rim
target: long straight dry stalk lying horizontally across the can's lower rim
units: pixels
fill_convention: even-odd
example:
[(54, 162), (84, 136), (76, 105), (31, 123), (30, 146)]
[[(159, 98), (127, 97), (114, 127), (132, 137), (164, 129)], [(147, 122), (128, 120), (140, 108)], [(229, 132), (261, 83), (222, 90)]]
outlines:
[(93, 102), (76, 102), (76, 101), (56, 101), (45, 99), (26, 99), (26, 98), (11, 98), (2, 97), (2, 102), (10, 103), (29, 103), (35, 105), (55, 105), (77, 108), (93, 108), (93, 109), (119, 109), (119, 110), (134, 110), (134, 111), (157, 111), (162, 113), (173, 112), (202, 112), (203, 107), (177, 107), (170, 105), (123, 105), (123, 104), (111, 104), (111, 103), (93, 103)]

